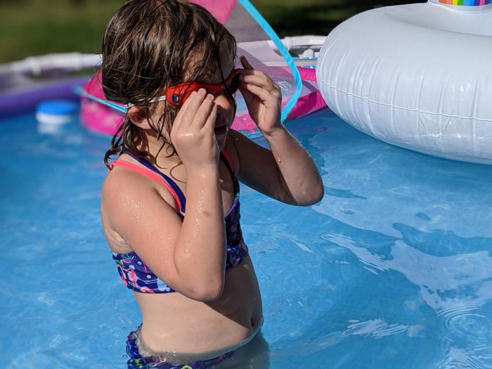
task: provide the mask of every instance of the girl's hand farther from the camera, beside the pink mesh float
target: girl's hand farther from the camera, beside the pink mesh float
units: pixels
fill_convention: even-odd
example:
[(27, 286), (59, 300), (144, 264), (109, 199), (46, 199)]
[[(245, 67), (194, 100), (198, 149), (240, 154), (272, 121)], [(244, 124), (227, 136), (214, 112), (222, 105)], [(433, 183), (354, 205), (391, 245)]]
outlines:
[(245, 68), (240, 75), (239, 90), (245, 98), (247, 110), (263, 134), (271, 134), (280, 123), (280, 88), (259, 70), (254, 70), (244, 56), (241, 64)]

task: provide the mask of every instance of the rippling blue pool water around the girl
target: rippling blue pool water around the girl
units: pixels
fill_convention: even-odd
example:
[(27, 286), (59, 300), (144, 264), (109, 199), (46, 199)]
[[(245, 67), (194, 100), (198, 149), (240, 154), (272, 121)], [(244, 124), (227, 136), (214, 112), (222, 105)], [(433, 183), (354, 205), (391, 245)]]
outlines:
[[(287, 127), (325, 198), (242, 187), (270, 368), (492, 368), (492, 166), (387, 145), (328, 110)], [(0, 368), (124, 368), (140, 316), (101, 231), (108, 142), (77, 122), (0, 123)]]

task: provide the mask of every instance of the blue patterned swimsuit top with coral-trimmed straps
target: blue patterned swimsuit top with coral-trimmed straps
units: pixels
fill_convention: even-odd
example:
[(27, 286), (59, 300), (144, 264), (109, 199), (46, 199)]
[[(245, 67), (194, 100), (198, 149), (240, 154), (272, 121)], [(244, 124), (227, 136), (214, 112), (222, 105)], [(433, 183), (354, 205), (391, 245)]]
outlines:
[[(123, 162), (122, 160), (115, 160), (115, 162), (112, 162), (110, 165), (110, 169), (117, 166), (125, 167), (127, 169), (137, 171), (144, 176), (148, 176), (154, 181), (162, 183), (173, 195), (176, 202), (177, 214), (183, 218), (185, 216), (186, 198), (179, 186), (177, 186), (176, 183), (169, 178), (169, 176), (166, 176), (157, 170), (157, 168), (154, 167), (153, 164), (150, 164), (148, 160), (141, 157), (135, 157), (127, 150), (124, 150), (124, 153), (130, 155), (135, 160), (143, 164), (145, 168), (129, 162)], [(226, 221), (227, 239), (226, 268), (232, 268), (233, 266), (240, 264), (240, 262), (247, 256), (248, 250), (244, 240), (242, 239), (242, 231), (239, 222), (239, 182), (234, 174), (233, 163), (224, 150), (221, 152), (221, 160), (224, 164), (226, 164), (228, 171), (231, 172), (234, 183), (234, 202), (224, 219)], [(126, 285), (130, 290), (142, 293), (175, 292), (164, 282), (164, 280), (157, 278), (153, 271), (151, 271), (142, 259), (138, 257), (136, 252), (129, 252), (127, 254), (116, 254), (113, 252), (112, 259), (116, 261), (118, 273), (122, 278), (124, 285)]]

